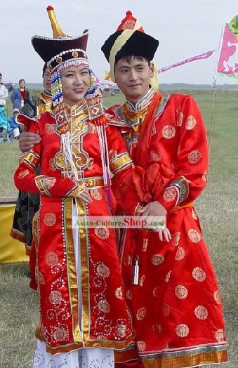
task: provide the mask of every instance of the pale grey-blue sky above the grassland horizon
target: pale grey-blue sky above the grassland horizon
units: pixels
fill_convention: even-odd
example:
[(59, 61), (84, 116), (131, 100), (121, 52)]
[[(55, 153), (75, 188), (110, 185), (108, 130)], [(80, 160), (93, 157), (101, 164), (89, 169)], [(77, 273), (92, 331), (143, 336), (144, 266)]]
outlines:
[(157, 69), (216, 49), (208, 59), (159, 74), (159, 83), (211, 84), (216, 77), (217, 84), (238, 84), (237, 78), (216, 76), (223, 25), (238, 14), (237, 0), (1, 0), (0, 72), (4, 81), (42, 81), (43, 61), (31, 38), (52, 37), (48, 5), (55, 8), (65, 34), (77, 36), (89, 29), (88, 60), (101, 82), (109, 67), (100, 48), (131, 10), (145, 32), (159, 39), (154, 56)]

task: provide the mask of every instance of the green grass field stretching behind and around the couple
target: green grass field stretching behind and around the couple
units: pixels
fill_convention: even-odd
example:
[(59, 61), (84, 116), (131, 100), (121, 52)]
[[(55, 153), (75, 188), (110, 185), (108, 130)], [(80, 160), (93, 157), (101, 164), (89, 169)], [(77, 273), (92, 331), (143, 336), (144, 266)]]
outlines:
[[(213, 91), (184, 92), (197, 99), (209, 136), (212, 122), (209, 183), (196, 208), (223, 298), (230, 362), (219, 367), (237, 368), (238, 92), (217, 91), (214, 105)], [(106, 106), (122, 101), (121, 95), (105, 96)], [(17, 195), (12, 176), (18, 155), (17, 142), (0, 143), (0, 197)], [(29, 368), (32, 364), (38, 297), (28, 287), (27, 271), (27, 263), (0, 265), (0, 367)]]

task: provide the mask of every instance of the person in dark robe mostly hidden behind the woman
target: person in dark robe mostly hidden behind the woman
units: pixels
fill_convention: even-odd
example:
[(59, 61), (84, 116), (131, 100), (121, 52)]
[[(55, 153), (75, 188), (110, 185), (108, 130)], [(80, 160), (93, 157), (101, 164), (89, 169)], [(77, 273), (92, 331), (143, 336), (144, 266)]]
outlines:
[[(34, 99), (34, 105), (26, 103), (22, 107), (22, 114), (32, 117), (51, 110), (51, 72), (48, 70), (46, 63), (43, 67), (42, 78), (44, 91), (41, 91), (39, 96)], [(10, 235), (13, 239), (25, 243), (26, 254), (28, 255), (32, 246), (32, 221), (38, 209), (39, 195), (27, 192), (18, 193)]]

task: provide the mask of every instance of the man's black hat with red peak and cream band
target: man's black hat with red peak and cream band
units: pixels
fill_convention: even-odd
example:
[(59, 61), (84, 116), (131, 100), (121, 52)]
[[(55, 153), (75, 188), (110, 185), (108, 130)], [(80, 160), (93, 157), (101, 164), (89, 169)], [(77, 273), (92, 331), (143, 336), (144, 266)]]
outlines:
[(115, 81), (114, 67), (118, 60), (124, 56), (143, 56), (154, 65), (154, 77), (151, 84), (158, 90), (157, 70), (154, 63), (154, 54), (159, 46), (159, 41), (146, 34), (143, 27), (131, 11), (126, 12), (126, 17), (121, 21), (117, 31), (105, 41), (101, 50), (110, 63), (110, 78)]

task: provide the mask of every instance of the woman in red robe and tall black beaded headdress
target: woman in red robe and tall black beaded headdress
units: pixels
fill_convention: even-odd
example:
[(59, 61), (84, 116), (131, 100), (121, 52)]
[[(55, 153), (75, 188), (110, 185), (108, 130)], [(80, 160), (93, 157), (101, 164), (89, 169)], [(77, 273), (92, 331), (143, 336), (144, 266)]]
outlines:
[(100, 221), (79, 227), (79, 218), (87, 224), (91, 216), (110, 216), (109, 169), (125, 210), (136, 213), (140, 205), (136, 192), (123, 185), (132, 168), (124, 141), (93, 94), (88, 32), (65, 36), (53, 8), (47, 10), (53, 38), (36, 36), (32, 44), (51, 70), (53, 108), (34, 119), (18, 116), (41, 142), (22, 156), (14, 176), (19, 190), (41, 195), (30, 254), (41, 315), (34, 367), (113, 367), (114, 349), (134, 337), (116, 234)]

